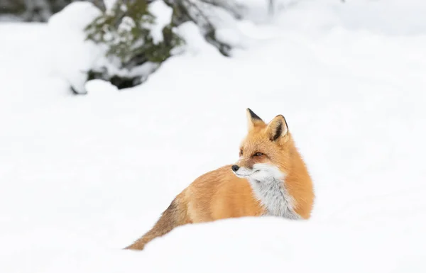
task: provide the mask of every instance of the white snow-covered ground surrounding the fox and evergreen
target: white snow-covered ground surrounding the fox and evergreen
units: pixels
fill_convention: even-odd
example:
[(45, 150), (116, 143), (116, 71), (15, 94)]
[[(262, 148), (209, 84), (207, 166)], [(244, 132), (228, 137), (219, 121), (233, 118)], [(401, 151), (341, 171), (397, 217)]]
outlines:
[[(0, 272), (426, 272), (426, 3), (285, 3), (240, 23), (232, 58), (187, 24), (187, 52), (148, 82), (87, 96), (52, 71), (48, 26), (1, 23)], [(187, 225), (121, 250), (237, 159), (246, 107), (287, 118), (312, 219)]]

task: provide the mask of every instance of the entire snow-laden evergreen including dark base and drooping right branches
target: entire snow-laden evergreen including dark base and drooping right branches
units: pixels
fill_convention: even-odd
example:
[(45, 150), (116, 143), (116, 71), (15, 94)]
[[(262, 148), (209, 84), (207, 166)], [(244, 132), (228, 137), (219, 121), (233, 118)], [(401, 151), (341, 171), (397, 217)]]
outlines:
[[(96, 67), (89, 72), (89, 79), (104, 79), (119, 88), (144, 82), (172, 56), (174, 48), (184, 43), (173, 30), (187, 21), (194, 22), (207, 42), (222, 55), (230, 55), (231, 46), (216, 38), (214, 9), (224, 9), (234, 18), (241, 18), (241, 6), (233, 0), (161, 1), (173, 9), (171, 23), (162, 30), (163, 40), (155, 41), (152, 37), (151, 28), (156, 18), (150, 13), (153, 2), (150, 0), (118, 0), (111, 11), (104, 11), (87, 26), (87, 39), (105, 47), (109, 64), (120, 70), (120, 75), (116, 75), (116, 72), (109, 71), (116, 69)], [(146, 67), (141, 69), (140, 77), (134, 77), (136, 70), (133, 69), (141, 65)], [(126, 74), (132, 77), (123, 76)]]

